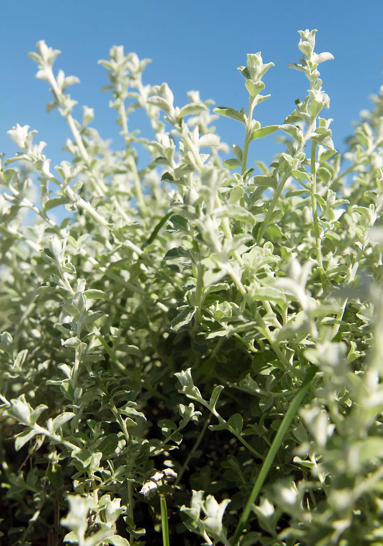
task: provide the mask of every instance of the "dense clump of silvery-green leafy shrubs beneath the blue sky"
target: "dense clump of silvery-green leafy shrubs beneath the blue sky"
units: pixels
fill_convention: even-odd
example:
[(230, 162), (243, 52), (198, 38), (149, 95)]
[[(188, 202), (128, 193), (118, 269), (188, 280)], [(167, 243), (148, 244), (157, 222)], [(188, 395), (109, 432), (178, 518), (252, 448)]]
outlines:
[[(72, 161), (52, 169), (36, 130), (8, 132), (4, 544), (383, 544), (383, 89), (337, 153), (315, 32), (292, 65), (307, 96), (266, 127), (260, 53), (239, 67), (248, 109), (212, 114), (112, 48), (117, 151), (91, 108), (73, 117), (59, 51), (30, 54)], [(152, 140), (129, 130), (136, 109)], [(223, 163), (216, 114), (245, 133)], [(255, 171), (252, 141), (277, 131), (285, 151)]]

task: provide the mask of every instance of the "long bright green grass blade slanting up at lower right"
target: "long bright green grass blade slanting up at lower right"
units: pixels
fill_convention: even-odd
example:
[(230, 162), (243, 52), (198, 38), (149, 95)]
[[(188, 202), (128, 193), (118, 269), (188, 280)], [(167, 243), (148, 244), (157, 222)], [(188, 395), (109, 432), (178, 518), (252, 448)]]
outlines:
[(237, 529), (235, 529), (233, 538), (232, 538), (232, 545), (236, 546), (239, 538), (241, 536), (241, 533), (245, 529), (246, 524), (248, 523), (249, 515), (251, 512), (251, 507), (254, 505), (255, 501), (257, 500), (258, 495), (260, 494), (260, 491), (262, 489), (262, 485), (264, 483), (264, 480), (267, 478), (267, 474), (270, 470), (270, 466), (272, 466), (273, 461), (275, 459), (275, 455), (278, 453), (278, 449), (280, 448), (280, 445), (286, 436), (288, 429), (290, 428), (290, 425), (292, 423), (292, 420), (297, 414), (297, 411), (299, 409), (299, 406), (302, 404), (304, 395), (307, 393), (307, 390), (310, 387), (310, 383), (313, 380), (315, 373), (317, 372), (318, 368), (317, 366), (311, 365), (309, 368), (309, 371), (307, 372), (307, 375), (298, 391), (298, 393), (294, 396), (292, 399), (290, 406), (288, 407), (287, 412), (285, 413), (285, 417), (282, 419), (282, 422), (280, 424), (280, 427), (278, 431), (276, 432), (275, 438), (273, 440), (272, 446), (269, 449), (269, 452), (266, 456), (266, 459), (263, 461), (261, 471), (258, 474), (257, 480), (254, 484), (254, 487), (251, 491), (251, 494), (248, 498), (248, 502), (246, 502), (246, 506), (244, 508), (244, 511), (241, 515), (241, 518), (239, 520), (239, 523), (237, 525)]

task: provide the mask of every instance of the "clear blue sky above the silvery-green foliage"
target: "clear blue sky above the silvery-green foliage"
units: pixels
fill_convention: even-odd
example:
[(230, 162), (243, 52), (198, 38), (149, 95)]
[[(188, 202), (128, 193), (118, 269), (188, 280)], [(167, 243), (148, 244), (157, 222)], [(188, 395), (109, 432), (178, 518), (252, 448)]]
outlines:
[[(93, 121), (103, 138), (122, 144), (104, 69), (97, 64), (107, 58), (112, 45), (123, 45), (140, 58), (150, 57), (145, 82), (167, 81), (175, 104), (187, 102), (186, 92), (199, 90), (203, 99), (235, 109), (246, 107), (248, 94), (237, 70), (246, 54), (262, 52), (264, 62), (275, 67), (264, 78), (271, 97), (257, 106), (255, 117), (263, 124), (282, 123), (304, 98), (307, 79), (287, 68), (299, 54), (297, 31), (317, 28), (316, 52), (330, 51), (334, 61), (320, 65), (323, 88), (331, 97), (326, 117), (333, 117), (333, 140), (338, 150), (352, 131), (352, 120), (369, 106), (370, 93), (383, 84), (383, 1), (332, 0), (332, 2), (282, 2), (269, 0), (66, 0), (55, 2), (4, 2), (0, 35), (0, 151), (13, 155), (15, 145), (7, 130), (15, 123), (37, 129), (37, 140), (48, 143), (45, 153), (52, 166), (65, 158), (60, 151), (69, 130), (57, 111), (46, 114), (48, 85), (34, 78), (36, 63), (27, 57), (36, 42), (44, 39), (62, 55), (55, 68), (76, 75), (81, 84), (70, 89), (81, 105), (93, 107)], [(139, 120), (138, 120), (139, 121)], [(221, 118), (217, 133), (228, 144), (242, 144), (241, 126)], [(134, 118), (130, 123), (134, 128)], [(250, 162), (269, 162), (278, 147), (274, 136), (257, 141)], [(250, 166), (250, 163), (249, 163)]]

